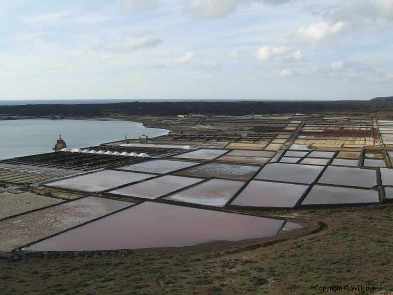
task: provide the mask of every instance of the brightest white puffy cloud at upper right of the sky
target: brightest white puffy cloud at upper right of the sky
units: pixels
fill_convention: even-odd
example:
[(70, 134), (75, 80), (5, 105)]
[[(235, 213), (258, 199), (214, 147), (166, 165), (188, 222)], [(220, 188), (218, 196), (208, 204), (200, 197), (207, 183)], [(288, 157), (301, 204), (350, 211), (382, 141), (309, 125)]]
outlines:
[(334, 37), (341, 33), (345, 28), (345, 22), (326, 22), (320, 21), (308, 26), (300, 27), (297, 30), (298, 35), (309, 42), (318, 42), (327, 38)]

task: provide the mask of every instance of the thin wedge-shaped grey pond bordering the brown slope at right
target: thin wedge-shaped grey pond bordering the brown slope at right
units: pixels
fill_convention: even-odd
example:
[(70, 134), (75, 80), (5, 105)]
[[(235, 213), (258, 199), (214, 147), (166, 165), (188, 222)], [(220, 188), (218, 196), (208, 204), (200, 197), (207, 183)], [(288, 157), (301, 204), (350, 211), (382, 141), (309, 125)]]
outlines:
[(344, 205), (378, 202), (378, 192), (375, 190), (315, 185), (302, 205)]

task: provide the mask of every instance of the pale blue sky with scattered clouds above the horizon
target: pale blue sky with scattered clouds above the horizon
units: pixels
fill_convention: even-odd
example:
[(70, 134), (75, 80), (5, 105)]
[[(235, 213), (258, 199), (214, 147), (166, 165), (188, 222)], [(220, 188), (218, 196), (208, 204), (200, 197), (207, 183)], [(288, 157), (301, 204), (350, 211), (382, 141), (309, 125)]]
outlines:
[(0, 100), (393, 95), (393, 0), (0, 0)]

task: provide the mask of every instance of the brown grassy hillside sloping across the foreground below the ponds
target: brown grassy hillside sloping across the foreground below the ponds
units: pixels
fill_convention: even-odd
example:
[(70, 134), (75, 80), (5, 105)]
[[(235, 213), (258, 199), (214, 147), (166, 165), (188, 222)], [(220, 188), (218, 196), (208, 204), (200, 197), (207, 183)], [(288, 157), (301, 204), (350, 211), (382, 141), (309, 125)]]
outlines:
[(393, 294), (393, 205), (296, 215), (325, 226), (268, 244), (0, 259), (0, 294)]

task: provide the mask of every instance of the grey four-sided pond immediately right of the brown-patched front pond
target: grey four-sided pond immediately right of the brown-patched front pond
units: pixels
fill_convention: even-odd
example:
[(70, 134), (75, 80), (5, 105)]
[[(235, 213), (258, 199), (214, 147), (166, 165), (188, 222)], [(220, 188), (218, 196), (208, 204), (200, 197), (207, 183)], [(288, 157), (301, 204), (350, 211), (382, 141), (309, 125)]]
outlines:
[(293, 208), (307, 188), (307, 185), (255, 180), (247, 185), (231, 205)]

